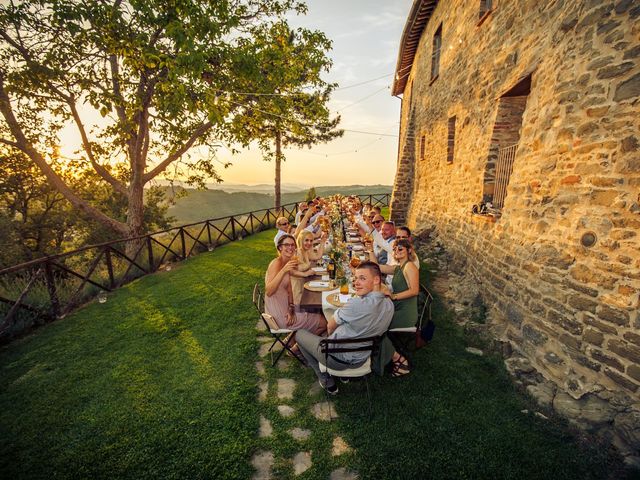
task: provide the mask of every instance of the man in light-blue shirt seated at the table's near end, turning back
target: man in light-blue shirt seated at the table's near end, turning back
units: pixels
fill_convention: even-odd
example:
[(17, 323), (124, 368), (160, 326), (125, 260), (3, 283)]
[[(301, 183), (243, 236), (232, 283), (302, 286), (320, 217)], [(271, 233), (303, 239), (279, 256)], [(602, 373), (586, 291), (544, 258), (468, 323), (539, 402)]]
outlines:
[[(385, 297), (380, 290), (381, 284), (380, 267), (372, 262), (363, 262), (356, 268), (354, 287), (358, 297), (352, 298), (342, 308), (336, 310), (333, 318), (329, 319), (327, 332), (329, 338), (364, 338), (382, 335), (389, 328), (393, 318), (393, 303)], [(320, 351), (320, 341), (322, 337), (314, 335), (307, 330), (298, 330), (296, 336), (298, 347), (304, 358), (313, 368), (320, 385), (331, 395), (338, 393), (338, 386), (328, 373), (322, 373), (318, 363), (325, 361), (325, 355)], [(388, 342), (385, 339), (385, 342)], [(390, 345), (390, 342), (388, 342)], [(394, 372), (401, 372), (400, 375), (409, 373), (409, 366), (406, 359), (389, 350), (388, 345), (383, 345), (384, 351), (392, 352), (391, 355), (381, 354), (379, 359), (382, 365), (386, 365), (389, 360), (394, 361)], [(362, 365), (371, 352), (347, 352), (335, 353), (328, 357), (327, 367), (334, 370), (346, 370), (347, 368), (359, 367)], [(394, 376), (399, 376), (394, 374)]]

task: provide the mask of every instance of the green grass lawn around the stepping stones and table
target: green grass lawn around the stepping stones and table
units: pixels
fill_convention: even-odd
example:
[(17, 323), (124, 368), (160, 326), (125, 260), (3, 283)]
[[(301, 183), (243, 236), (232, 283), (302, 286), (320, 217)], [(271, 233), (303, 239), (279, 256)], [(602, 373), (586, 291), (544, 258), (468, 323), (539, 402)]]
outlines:
[[(258, 450), (274, 453), (274, 478), (294, 478), (290, 459), (311, 452), (300, 479), (340, 466), (361, 478), (607, 478), (606, 448), (578, 442), (516, 394), (499, 358), (465, 352), (465, 339), (436, 308), (434, 342), (406, 378), (340, 384), (339, 418), (316, 420), (311, 370), (267, 366), (257, 401), (259, 342), (251, 289), (273, 257), (273, 232), (204, 253), (144, 277), (66, 319), (0, 349), (3, 478), (248, 479)], [(267, 363), (265, 361), (265, 363)], [(297, 382), (278, 400), (278, 378)], [(277, 406), (295, 408), (282, 418)], [(260, 415), (274, 433), (258, 438)], [(287, 431), (311, 430), (294, 440)], [(349, 453), (334, 457), (341, 436)]]

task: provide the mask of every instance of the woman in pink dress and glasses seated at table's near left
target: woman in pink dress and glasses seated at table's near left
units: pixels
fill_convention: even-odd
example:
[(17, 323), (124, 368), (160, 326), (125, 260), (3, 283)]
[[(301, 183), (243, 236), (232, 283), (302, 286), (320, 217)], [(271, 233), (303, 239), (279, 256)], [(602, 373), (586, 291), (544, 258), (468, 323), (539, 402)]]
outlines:
[[(296, 241), (292, 235), (284, 234), (278, 239), (278, 257), (271, 261), (265, 275), (265, 311), (280, 328), (305, 329), (316, 335), (327, 329), (327, 321), (319, 313), (301, 311), (295, 305), (291, 288), (291, 275), (298, 267)], [(289, 343), (293, 338), (289, 340)]]

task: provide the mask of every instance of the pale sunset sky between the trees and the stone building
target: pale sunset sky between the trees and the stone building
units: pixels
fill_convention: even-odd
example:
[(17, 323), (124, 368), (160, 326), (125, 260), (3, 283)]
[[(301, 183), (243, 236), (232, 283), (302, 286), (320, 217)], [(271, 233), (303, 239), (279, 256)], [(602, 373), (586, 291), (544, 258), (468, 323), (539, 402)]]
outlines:
[[(333, 68), (325, 79), (339, 84), (329, 105), (342, 116), (340, 128), (346, 131), (329, 144), (285, 150), (283, 184), (393, 183), (400, 99), (391, 96), (390, 86), (411, 4), (411, 0), (308, 0), (308, 14), (290, 18), (292, 25), (321, 30), (333, 41), (329, 54)], [(100, 119), (91, 112), (84, 121)], [(77, 131), (65, 129), (61, 143), (63, 155), (72, 156), (80, 144)], [(236, 155), (222, 148), (217, 157), (226, 182), (273, 182), (274, 163), (262, 160), (257, 146)], [(232, 166), (224, 169), (223, 162)]]

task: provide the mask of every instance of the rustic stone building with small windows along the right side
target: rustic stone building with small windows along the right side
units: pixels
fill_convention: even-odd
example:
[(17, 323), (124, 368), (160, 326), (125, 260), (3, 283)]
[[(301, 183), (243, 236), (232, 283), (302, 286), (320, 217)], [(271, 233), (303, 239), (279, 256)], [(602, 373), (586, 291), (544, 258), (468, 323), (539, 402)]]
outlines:
[(640, 461), (640, 3), (416, 0), (393, 94), (392, 217), (478, 286), (539, 401)]

